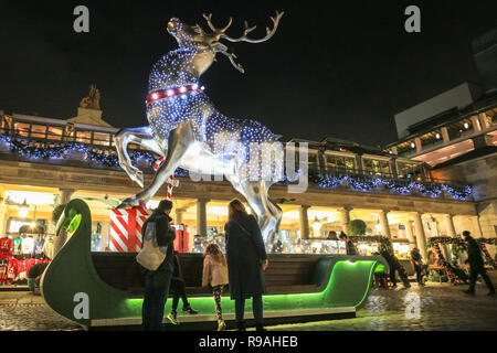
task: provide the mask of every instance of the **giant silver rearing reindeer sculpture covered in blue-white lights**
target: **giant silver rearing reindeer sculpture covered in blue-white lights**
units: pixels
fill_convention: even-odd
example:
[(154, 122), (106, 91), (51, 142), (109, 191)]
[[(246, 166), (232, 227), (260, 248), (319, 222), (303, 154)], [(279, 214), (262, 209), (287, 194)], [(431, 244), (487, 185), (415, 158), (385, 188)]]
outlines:
[[(179, 49), (161, 57), (151, 71), (147, 96), (150, 126), (123, 129), (114, 137), (120, 167), (141, 188), (144, 176), (131, 164), (127, 145), (144, 146), (165, 160), (151, 184), (125, 200), (120, 206), (146, 203), (177, 168), (203, 174), (223, 174), (256, 213), (266, 244), (273, 240), (282, 211), (268, 197), (268, 189), (277, 180), (248, 179), (247, 154), (252, 150), (250, 145), (271, 145), (275, 137), (257, 121), (236, 120), (219, 113), (204, 94), (199, 78), (215, 61), (216, 53), (226, 55), (233, 66), (243, 73), (243, 67), (234, 61), (235, 54), (230, 53), (220, 40), (262, 43), (274, 35), (282, 15), (283, 12), (276, 12), (276, 17), (272, 18), (273, 29), (266, 28), (267, 34), (258, 40), (247, 38), (255, 26), (248, 28), (246, 22), (242, 36), (229, 36), (225, 31), (232, 23), (231, 18), (225, 28), (216, 29), (211, 22), (211, 14), (204, 14), (212, 33), (204, 32), (198, 24), (191, 26), (176, 18), (170, 20), (168, 32), (178, 41)], [(269, 167), (276, 170), (276, 174), (283, 171), (283, 158), (275, 159)]]

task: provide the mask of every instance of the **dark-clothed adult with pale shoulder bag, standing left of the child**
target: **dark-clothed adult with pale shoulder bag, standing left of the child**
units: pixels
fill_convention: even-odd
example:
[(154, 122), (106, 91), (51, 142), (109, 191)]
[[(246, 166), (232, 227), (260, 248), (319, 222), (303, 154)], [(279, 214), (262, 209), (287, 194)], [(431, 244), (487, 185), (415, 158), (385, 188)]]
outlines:
[(156, 223), (156, 236), (158, 246), (167, 246), (166, 258), (157, 270), (145, 269), (145, 296), (141, 307), (142, 328), (145, 331), (162, 330), (163, 307), (169, 295), (169, 286), (172, 278), (173, 244), (176, 232), (171, 228), (169, 216), (172, 202), (162, 200), (154, 213), (144, 223), (142, 234), (146, 234), (148, 224)]

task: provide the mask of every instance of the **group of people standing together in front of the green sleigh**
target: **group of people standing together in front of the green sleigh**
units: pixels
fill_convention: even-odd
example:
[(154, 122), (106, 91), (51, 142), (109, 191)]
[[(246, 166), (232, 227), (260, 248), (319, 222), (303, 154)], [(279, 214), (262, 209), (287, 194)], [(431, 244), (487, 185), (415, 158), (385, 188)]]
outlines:
[[(173, 250), (175, 231), (169, 216), (172, 202), (163, 200), (145, 222), (142, 232), (147, 232), (150, 222), (156, 226), (156, 238), (159, 247), (166, 247), (166, 257), (156, 270), (145, 272), (145, 296), (142, 303), (142, 328), (146, 331), (162, 329), (163, 310), (169, 292), (172, 295), (172, 307), (168, 319), (178, 324), (178, 303), (181, 298), (182, 311), (195, 314), (197, 311), (188, 302), (186, 285), (182, 278), (181, 261)], [(264, 240), (257, 221), (248, 215), (240, 200), (233, 200), (229, 206), (229, 221), (224, 226), (226, 255), (219, 245), (212, 243), (205, 248), (203, 260), (202, 287), (209, 287), (213, 293), (218, 317), (218, 330), (226, 329), (221, 308), (221, 296), (229, 284), (230, 298), (234, 300), (236, 330), (245, 331), (245, 300), (252, 298), (252, 309), (257, 331), (264, 330), (263, 301), (265, 281), (263, 271), (268, 266)]]

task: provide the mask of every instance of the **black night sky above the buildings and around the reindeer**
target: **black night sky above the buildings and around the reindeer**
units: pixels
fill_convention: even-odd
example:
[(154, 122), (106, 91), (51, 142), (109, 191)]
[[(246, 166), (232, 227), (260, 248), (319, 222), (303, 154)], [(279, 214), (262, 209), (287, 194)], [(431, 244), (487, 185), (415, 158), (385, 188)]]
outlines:
[[(208, 29), (202, 13), (219, 26), (232, 15), (230, 34), (247, 20), (258, 36), (283, 10), (269, 41), (229, 43), (245, 74), (219, 55), (201, 77), (218, 109), (285, 138), (385, 145), (396, 139), (395, 113), (478, 81), (470, 40), (496, 25), (495, 3), (0, 0), (0, 109), (71, 118), (96, 84), (105, 120), (146, 125), (151, 66), (177, 47), (171, 17)], [(77, 4), (89, 8), (89, 33), (73, 31)], [(404, 31), (409, 4), (421, 8), (421, 33)]]

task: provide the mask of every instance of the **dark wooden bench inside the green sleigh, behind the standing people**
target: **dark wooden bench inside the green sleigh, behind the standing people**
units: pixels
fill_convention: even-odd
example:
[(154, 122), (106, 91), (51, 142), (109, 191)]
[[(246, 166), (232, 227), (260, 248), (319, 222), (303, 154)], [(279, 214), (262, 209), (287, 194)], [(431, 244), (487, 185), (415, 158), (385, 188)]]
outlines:
[[(140, 297), (145, 291), (145, 281), (135, 256), (134, 253), (92, 253), (95, 270), (102, 280), (130, 296)], [(207, 288), (201, 287), (203, 256), (181, 254), (180, 258), (187, 295), (211, 296)], [(319, 258), (315, 255), (269, 255), (269, 266), (265, 271), (267, 293), (316, 292), (315, 269)]]

